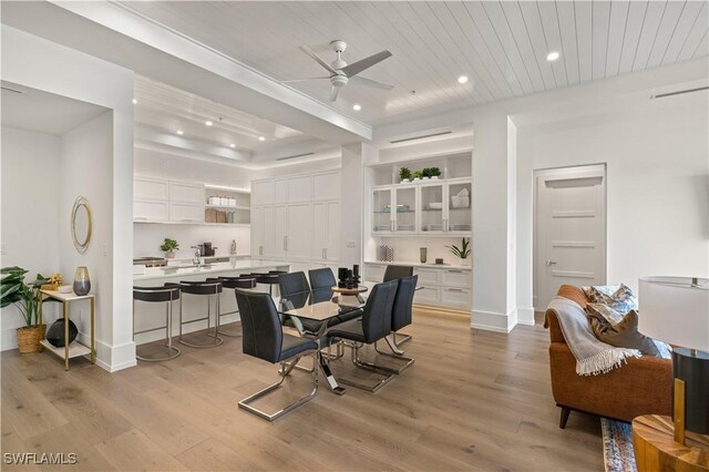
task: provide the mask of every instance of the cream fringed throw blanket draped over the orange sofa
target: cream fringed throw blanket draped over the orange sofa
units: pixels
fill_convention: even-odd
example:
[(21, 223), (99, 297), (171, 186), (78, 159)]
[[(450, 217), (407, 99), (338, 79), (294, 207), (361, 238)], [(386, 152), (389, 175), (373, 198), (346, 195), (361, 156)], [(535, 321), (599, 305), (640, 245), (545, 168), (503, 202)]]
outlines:
[(627, 357), (639, 358), (637, 349), (614, 348), (599, 341), (590, 330), (584, 309), (575, 301), (556, 297), (547, 309), (556, 311), (566, 343), (576, 358), (576, 373), (597, 376), (626, 362)]

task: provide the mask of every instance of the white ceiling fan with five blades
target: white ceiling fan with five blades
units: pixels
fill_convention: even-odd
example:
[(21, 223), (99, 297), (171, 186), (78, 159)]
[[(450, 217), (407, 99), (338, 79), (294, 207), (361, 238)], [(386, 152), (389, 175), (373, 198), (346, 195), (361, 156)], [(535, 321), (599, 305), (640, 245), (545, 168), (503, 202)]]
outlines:
[(384, 51), (378, 52), (377, 54), (372, 54), (369, 58), (364, 58), (360, 61), (357, 61), (348, 65), (348, 63), (345, 62), (340, 57), (340, 54), (342, 54), (342, 52), (345, 52), (345, 50), (347, 49), (347, 42), (342, 40), (331, 41), (330, 48), (332, 48), (332, 51), (337, 53), (337, 59), (328, 64), (322, 58), (316, 54), (315, 51), (312, 51), (307, 45), (300, 47), (300, 50), (302, 52), (305, 52), (306, 54), (315, 59), (318, 64), (327, 69), (327, 71), (330, 72), (330, 75), (319, 76), (319, 78), (294, 79), (294, 80), (286, 80), (284, 82), (285, 83), (304, 82), (308, 80), (329, 79), (330, 84), (332, 85), (330, 89), (331, 102), (335, 102), (337, 100), (337, 96), (340, 93), (340, 89), (347, 85), (350, 81), (354, 83), (359, 83), (360, 85), (372, 86), (374, 89), (381, 89), (381, 90), (393, 89), (393, 85), (389, 85), (387, 83), (382, 83), (371, 79), (366, 79), (358, 75), (360, 72), (364, 71), (366, 69), (369, 69), (372, 65), (391, 57), (391, 52), (384, 50)]

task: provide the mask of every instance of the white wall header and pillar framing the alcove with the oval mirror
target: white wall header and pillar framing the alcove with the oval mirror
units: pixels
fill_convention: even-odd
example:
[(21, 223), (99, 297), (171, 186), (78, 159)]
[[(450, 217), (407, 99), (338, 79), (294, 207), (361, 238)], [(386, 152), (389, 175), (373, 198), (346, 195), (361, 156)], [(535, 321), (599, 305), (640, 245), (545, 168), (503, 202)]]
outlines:
[[(102, 289), (107, 308), (101, 316), (109, 338), (96, 345), (96, 355), (99, 365), (107, 370), (134, 366), (129, 315), (133, 285), (133, 72), (4, 24), (1, 33), (3, 80), (112, 110), (111, 152), (95, 156), (105, 160), (110, 170), (96, 198), (111, 202), (105, 250), (112, 285), (111, 290), (105, 285)], [(90, 185), (92, 176), (83, 178)]]

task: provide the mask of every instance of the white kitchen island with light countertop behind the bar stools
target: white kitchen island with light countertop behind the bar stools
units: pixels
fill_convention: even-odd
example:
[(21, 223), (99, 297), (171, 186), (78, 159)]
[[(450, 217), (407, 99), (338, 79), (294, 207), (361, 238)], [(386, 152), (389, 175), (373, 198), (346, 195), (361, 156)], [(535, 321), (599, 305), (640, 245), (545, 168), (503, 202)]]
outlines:
[[(189, 266), (172, 266), (172, 267), (145, 267), (143, 274), (135, 274), (133, 276), (134, 287), (161, 287), (166, 283), (197, 281), (206, 280), (213, 277), (235, 277), (238, 275), (250, 273), (267, 273), (269, 270), (289, 270), (289, 264), (282, 260), (267, 260), (267, 259), (246, 259), (246, 260), (232, 260), (229, 263), (216, 263), (206, 264), (199, 267), (194, 265)], [(268, 286), (257, 286), (257, 290), (268, 291)], [(212, 325), (214, 326), (214, 302), (212, 304)], [(189, 295), (184, 296), (182, 301), (183, 318), (185, 320), (202, 318), (207, 312), (207, 302), (205, 299), (193, 297)], [(236, 311), (236, 297), (234, 290), (225, 289), (220, 296), (222, 312)], [(164, 326), (165, 324), (165, 305), (164, 304), (145, 304), (137, 301), (134, 304), (134, 331), (142, 331), (145, 329), (156, 328)], [(173, 336), (177, 336), (179, 332), (179, 301), (174, 302), (173, 307)], [(220, 325), (238, 321), (238, 314), (232, 314), (223, 316)], [(198, 331), (206, 329), (206, 321), (194, 322), (185, 325), (183, 332)], [(164, 331), (153, 331), (138, 335), (135, 337), (136, 345), (143, 345), (146, 342), (164, 339)], [(175, 338), (175, 342), (177, 339)]]

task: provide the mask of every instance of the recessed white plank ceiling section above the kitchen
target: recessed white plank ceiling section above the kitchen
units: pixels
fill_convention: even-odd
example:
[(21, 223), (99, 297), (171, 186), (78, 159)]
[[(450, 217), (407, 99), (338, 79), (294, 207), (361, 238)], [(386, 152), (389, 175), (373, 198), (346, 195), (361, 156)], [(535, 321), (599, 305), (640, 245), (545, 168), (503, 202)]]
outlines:
[[(177, 136), (179, 130), (184, 141), (198, 141), (224, 148), (232, 148), (234, 144), (237, 151), (250, 154), (309, 138), (299, 131), (141, 75), (135, 76), (134, 95), (137, 126), (172, 136)], [(206, 121), (212, 121), (213, 125), (205, 125)], [(259, 141), (260, 136), (265, 141)], [(179, 145), (182, 140), (172, 142)]]

